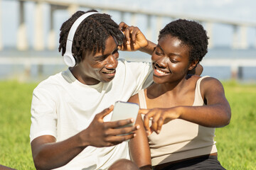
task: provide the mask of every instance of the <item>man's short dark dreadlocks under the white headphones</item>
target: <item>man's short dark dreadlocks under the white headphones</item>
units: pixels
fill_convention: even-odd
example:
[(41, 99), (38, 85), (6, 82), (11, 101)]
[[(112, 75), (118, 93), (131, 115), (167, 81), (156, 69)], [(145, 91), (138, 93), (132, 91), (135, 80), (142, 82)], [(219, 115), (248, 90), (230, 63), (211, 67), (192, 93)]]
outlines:
[[(87, 12), (97, 12), (96, 10), (90, 10)], [(87, 13), (86, 12), (86, 13)], [(84, 14), (84, 11), (77, 11), (76, 13), (65, 21), (60, 28), (60, 45), (58, 47), (59, 52), (62, 50), (62, 55), (65, 54), (66, 42), (68, 33), (75, 21)], [(105, 51), (105, 42), (107, 38), (113, 36), (117, 41), (122, 41), (121, 31), (118, 29), (117, 23), (115, 23), (110, 15), (106, 13), (95, 13), (85, 18), (78, 29), (75, 31), (73, 39), (72, 53), (77, 63), (83, 60), (83, 52), (92, 52), (95, 55), (96, 52)]]

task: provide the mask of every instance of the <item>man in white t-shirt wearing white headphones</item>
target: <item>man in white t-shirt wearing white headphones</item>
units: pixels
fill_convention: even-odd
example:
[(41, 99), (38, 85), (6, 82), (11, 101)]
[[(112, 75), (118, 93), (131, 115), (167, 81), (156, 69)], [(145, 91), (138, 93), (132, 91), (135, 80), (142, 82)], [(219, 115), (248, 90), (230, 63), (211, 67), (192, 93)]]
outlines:
[(127, 101), (151, 83), (151, 64), (117, 60), (118, 48), (151, 54), (154, 43), (121, 23), (124, 40), (109, 15), (92, 12), (97, 11), (87, 16), (78, 11), (63, 23), (59, 51), (70, 67), (33, 91), (30, 137), (36, 169), (108, 169), (114, 162), (116, 169), (132, 167), (123, 161), (129, 159), (124, 141), (139, 126), (119, 128), (135, 120), (110, 122), (110, 113), (115, 101)]

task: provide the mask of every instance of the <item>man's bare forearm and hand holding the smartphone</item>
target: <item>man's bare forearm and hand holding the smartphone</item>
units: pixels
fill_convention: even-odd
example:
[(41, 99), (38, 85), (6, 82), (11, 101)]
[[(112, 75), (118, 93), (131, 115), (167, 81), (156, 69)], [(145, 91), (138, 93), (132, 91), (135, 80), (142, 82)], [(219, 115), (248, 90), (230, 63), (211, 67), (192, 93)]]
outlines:
[[(36, 169), (54, 169), (68, 164), (87, 146), (110, 147), (134, 137), (138, 128), (119, 128), (134, 120), (104, 122), (103, 118), (113, 110), (113, 106), (95, 115), (90, 126), (67, 140), (56, 142), (55, 137), (43, 135), (31, 142), (33, 161)], [(124, 135), (130, 133), (129, 135)], [(122, 135), (122, 136), (119, 136)]]

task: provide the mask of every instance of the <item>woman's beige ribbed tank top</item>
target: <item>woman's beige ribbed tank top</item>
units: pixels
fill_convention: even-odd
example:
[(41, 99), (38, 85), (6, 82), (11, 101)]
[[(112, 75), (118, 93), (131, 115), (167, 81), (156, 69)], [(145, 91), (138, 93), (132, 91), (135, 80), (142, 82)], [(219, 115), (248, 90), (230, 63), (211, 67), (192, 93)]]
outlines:
[[(195, 99), (193, 106), (203, 106), (200, 84), (196, 83)], [(139, 106), (146, 108), (144, 89), (139, 91)], [(149, 135), (152, 166), (174, 162), (189, 157), (217, 152), (215, 146), (215, 128), (206, 128), (186, 120), (176, 119), (166, 123), (161, 128), (159, 135)]]

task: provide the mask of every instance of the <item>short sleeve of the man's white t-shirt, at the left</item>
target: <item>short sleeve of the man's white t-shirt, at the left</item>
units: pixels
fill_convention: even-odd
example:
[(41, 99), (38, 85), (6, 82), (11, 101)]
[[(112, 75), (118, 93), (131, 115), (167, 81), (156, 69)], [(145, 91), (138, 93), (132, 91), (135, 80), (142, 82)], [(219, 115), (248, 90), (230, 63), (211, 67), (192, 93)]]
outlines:
[(30, 141), (41, 135), (56, 137), (56, 104), (46, 89), (36, 88), (31, 103)]

